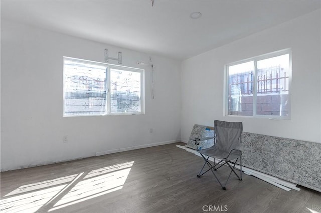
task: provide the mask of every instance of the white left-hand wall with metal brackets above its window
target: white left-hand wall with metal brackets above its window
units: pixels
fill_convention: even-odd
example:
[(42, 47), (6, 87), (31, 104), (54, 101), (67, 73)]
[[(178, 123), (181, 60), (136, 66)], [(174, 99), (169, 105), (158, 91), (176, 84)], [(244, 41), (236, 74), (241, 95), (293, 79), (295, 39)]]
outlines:
[[(63, 56), (104, 62), (105, 48), (111, 57), (121, 51), (123, 65), (146, 69), (145, 115), (64, 118)], [(1, 56), (3, 171), (180, 139), (180, 61), (5, 20)], [(155, 68), (155, 99), (151, 69), (137, 65), (149, 56)], [(68, 143), (63, 143), (64, 135)]]

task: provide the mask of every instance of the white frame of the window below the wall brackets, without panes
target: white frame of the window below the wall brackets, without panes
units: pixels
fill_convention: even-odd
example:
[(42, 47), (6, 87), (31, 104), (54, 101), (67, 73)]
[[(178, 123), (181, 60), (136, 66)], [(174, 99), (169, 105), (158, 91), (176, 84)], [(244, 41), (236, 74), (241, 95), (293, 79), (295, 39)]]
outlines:
[[(66, 115), (65, 114), (65, 60), (71, 60), (81, 63), (93, 64), (105, 66), (106, 68), (106, 113), (105, 114), (74, 114)], [(140, 73), (140, 112), (111, 112), (111, 90), (110, 90), (110, 70), (118, 69), (131, 72)], [(108, 115), (143, 115), (145, 114), (145, 69), (135, 68), (123, 65), (116, 65), (110, 63), (102, 63), (97, 61), (66, 57), (63, 56), (63, 117), (88, 117), (88, 116), (108, 116)]]

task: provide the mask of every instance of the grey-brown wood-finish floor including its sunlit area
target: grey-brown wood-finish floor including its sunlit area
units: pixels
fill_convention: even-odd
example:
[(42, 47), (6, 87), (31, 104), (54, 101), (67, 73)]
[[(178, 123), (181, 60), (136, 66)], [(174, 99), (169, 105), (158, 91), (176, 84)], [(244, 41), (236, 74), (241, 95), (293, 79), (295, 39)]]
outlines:
[[(286, 192), (244, 174), (242, 181), (232, 176), (224, 191), (211, 173), (197, 178), (202, 158), (175, 147), (177, 144), (183, 145), (2, 172), (0, 211), (17, 212), (18, 200), (28, 206), (23, 212), (34, 212), (31, 206), (38, 206), (37, 212), (213, 212), (208, 206), (215, 206), (214, 212), (321, 213), (321, 193), (301, 186), (299, 192)], [(132, 166), (124, 164), (128, 162), (133, 162)], [(110, 167), (113, 165), (117, 166)], [(223, 166), (218, 177), (224, 178), (228, 172)], [(58, 180), (50, 181), (54, 179)], [(108, 185), (112, 182), (118, 185)], [(117, 188), (120, 185), (122, 188)], [(55, 187), (54, 192), (43, 193)], [(37, 198), (33, 200), (33, 196)], [(78, 203), (68, 205), (73, 202)]]

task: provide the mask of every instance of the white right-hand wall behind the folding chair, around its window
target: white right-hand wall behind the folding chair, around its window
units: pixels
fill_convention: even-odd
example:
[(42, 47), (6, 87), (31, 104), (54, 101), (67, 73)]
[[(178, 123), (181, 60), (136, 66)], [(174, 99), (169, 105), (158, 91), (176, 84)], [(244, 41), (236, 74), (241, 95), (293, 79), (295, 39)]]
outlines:
[[(181, 140), (193, 124), (241, 121), (245, 132), (321, 142), (321, 11), (189, 58), (182, 63)], [(292, 48), (291, 120), (223, 116), (224, 65)]]

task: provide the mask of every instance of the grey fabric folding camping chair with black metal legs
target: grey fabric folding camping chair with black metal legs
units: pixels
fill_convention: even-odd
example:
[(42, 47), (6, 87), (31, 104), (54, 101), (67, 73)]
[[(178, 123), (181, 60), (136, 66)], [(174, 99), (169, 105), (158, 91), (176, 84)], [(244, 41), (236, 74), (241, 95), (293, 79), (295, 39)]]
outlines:
[[(197, 147), (197, 152), (201, 154), (205, 163), (197, 175), (197, 177), (201, 177), (208, 171), (212, 171), (215, 178), (221, 185), (223, 190), (226, 190), (226, 183), (229, 180), (232, 172), (238, 177), (239, 180), (242, 180), (242, 141), (241, 141), (241, 134), (243, 131), (243, 124), (241, 122), (225, 122), (225, 121), (214, 121), (214, 140), (215, 143), (212, 147), (201, 149), (199, 147), (200, 142), (203, 140), (208, 140), (209, 138), (195, 138), (195, 145)], [(214, 165), (209, 162), (209, 158), (214, 158)], [(216, 158), (220, 159), (218, 163), (216, 163)], [(240, 158), (240, 176), (234, 171), (235, 165)], [(213, 160), (213, 159), (212, 159)], [(234, 162), (233, 162), (233, 161)], [(217, 169), (222, 167), (223, 165), (227, 164), (231, 172), (224, 184), (220, 182), (218, 177), (216, 176), (215, 172)], [(209, 169), (202, 173), (205, 165), (209, 166)], [(233, 166), (232, 166), (233, 165)]]

